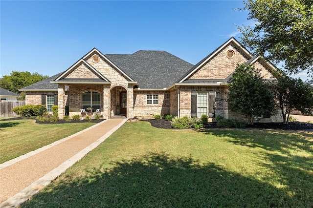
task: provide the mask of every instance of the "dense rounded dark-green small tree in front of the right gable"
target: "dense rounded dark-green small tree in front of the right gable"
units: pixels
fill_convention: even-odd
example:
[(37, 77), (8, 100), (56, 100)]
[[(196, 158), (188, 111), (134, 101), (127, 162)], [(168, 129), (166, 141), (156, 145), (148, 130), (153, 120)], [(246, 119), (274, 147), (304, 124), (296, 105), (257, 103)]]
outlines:
[(253, 124), (255, 116), (275, 113), (273, 95), (259, 70), (246, 63), (238, 64), (232, 75), (228, 106), (230, 110), (246, 115), (248, 124)]

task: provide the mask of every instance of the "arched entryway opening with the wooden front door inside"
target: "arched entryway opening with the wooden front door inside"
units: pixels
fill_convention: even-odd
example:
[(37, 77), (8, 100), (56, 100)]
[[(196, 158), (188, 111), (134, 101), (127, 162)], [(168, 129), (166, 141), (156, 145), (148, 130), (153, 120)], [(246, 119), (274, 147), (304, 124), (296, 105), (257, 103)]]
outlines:
[(110, 94), (110, 117), (115, 115), (122, 115), (127, 118), (127, 89), (122, 86), (114, 86), (110, 90)]

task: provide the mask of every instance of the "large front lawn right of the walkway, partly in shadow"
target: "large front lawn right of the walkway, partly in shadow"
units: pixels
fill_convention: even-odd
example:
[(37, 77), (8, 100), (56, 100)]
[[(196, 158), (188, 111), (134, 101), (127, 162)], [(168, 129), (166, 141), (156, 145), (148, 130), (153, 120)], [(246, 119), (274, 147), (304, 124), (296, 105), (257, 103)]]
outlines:
[(23, 207), (313, 207), (313, 133), (126, 123)]

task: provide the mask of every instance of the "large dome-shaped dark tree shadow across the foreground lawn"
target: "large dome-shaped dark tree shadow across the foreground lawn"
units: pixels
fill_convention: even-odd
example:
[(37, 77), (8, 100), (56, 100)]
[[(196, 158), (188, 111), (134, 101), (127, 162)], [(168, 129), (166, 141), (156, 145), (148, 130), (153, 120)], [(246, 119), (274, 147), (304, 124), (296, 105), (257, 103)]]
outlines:
[(305, 207), (285, 191), (192, 158), (149, 154), (67, 176), (24, 207)]

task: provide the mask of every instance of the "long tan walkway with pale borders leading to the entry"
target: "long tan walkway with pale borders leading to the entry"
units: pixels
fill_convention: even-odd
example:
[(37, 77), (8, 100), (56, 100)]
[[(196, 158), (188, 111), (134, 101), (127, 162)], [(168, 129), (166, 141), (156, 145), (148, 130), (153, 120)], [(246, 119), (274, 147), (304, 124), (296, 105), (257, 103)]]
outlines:
[(0, 208), (18, 207), (96, 146), (127, 119), (108, 119), (0, 164)]

